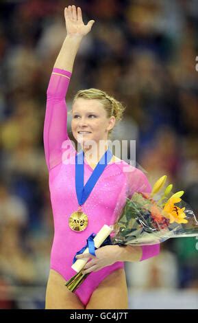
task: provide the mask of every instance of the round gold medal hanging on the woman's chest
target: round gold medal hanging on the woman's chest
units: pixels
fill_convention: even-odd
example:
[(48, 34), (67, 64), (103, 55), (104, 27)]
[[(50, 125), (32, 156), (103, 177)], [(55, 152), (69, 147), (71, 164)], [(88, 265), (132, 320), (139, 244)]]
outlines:
[(69, 227), (75, 232), (83, 231), (88, 225), (88, 216), (82, 212), (82, 207), (73, 212), (69, 217)]

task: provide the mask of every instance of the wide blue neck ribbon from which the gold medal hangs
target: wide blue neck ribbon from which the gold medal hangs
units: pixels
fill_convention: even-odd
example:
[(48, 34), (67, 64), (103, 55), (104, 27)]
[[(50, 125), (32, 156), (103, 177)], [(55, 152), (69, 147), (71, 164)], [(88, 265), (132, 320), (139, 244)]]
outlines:
[(106, 153), (99, 160), (97, 166), (92, 172), (92, 175), (84, 186), (84, 151), (80, 151), (77, 155), (75, 155), (75, 190), (79, 205), (84, 204), (84, 202), (88, 199), (90, 192), (92, 192), (97, 180), (111, 159), (112, 152), (108, 148)]

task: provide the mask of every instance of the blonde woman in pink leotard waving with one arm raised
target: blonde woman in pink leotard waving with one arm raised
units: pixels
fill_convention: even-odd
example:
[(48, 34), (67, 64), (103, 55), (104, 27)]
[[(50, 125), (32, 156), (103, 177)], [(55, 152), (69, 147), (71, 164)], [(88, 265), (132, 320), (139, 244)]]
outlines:
[[(75, 293), (65, 287), (65, 282), (76, 274), (71, 268), (73, 258), (86, 245), (88, 236), (99, 232), (104, 224), (114, 223), (114, 209), (123, 188), (129, 185), (130, 192), (149, 192), (151, 187), (147, 177), (137, 168), (129, 166), (130, 172), (125, 172), (127, 163), (112, 155), (108, 147), (108, 137), (116, 122), (121, 120), (124, 107), (106, 92), (86, 89), (75, 95), (71, 127), (82, 151), (77, 154), (72, 146), (67, 135), (65, 96), (77, 50), (95, 21), (85, 25), (81, 8), (75, 5), (64, 9), (64, 18), (66, 38), (49, 81), (44, 125), (55, 228), (46, 309), (127, 309), (124, 261), (140, 261), (155, 256), (159, 253), (159, 245), (100, 247), (95, 256), (86, 255), (91, 260), (84, 272), (90, 275), (82, 285)], [(86, 145), (90, 141), (95, 145)], [(103, 149), (99, 149), (99, 145)], [(64, 157), (68, 149), (71, 154)], [(79, 155), (82, 157), (81, 165), (77, 161)]]

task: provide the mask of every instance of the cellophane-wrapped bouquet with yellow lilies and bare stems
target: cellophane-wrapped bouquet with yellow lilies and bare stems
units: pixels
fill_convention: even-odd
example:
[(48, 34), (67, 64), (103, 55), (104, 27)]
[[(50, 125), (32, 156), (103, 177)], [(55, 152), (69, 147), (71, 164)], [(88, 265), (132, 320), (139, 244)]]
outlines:
[[(131, 198), (126, 197), (116, 223), (108, 227), (108, 234), (112, 232), (112, 236), (107, 237), (107, 231), (103, 234), (101, 230), (97, 247), (106, 244), (153, 245), (169, 238), (198, 236), (197, 218), (190, 206), (181, 199), (184, 191), (172, 194), (173, 184), (170, 184), (159, 196), (158, 192), (165, 182), (166, 175), (156, 181), (151, 193), (134, 192)], [(77, 254), (85, 252), (85, 249)], [(76, 263), (79, 261), (84, 260), (77, 260)], [(75, 291), (89, 275), (82, 274), (87, 261), (82, 263), (79, 270), (75, 269), (79, 272), (66, 282), (66, 287), (71, 291)]]

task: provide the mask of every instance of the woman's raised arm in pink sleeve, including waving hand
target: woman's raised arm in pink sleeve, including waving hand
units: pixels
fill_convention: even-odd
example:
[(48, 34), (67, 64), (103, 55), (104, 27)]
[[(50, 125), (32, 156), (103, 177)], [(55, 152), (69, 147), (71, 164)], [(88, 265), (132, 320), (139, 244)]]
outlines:
[[(62, 161), (62, 154), (66, 149), (75, 149), (70, 143), (67, 133), (67, 107), (65, 96), (69, 87), (69, 81), (73, 71), (75, 56), (82, 39), (95, 21), (91, 20), (84, 25), (82, 11), (75, 5), (69, 5), (64, 9), (66, 23), (66, 38), (60, 49), (49, 85), (47, 88), (47, 106), (43, 131), (45, 159), (48, 170), (57, 166)], [(68, 145), (62, 144), (66, 142)]]

